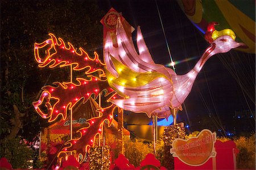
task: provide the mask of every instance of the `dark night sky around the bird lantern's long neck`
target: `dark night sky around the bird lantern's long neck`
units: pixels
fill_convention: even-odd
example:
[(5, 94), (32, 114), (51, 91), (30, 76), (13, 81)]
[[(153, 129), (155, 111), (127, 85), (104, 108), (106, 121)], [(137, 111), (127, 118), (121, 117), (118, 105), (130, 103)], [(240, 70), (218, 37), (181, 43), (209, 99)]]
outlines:
[[(135, 28), (134, 35), (137, 26), (141, 26), (155, 63), (170, 63), (155, 1), (98, 1), (98, 5), (105, 13), (110, 7), (121, 12)], [(176, 65), (176, 73), (185, 74), (193, 68), (209, 44), (175, 1), (158, 1), (158, 7), (172, 59), (182, 61), (193, 58)], [(252, 99), (242, 92), (239, 82), (243, 82), (242, 88), (253, 96)], [(177, 122), (189, 124), (190, 121), (192, 131), (200, 130), (197, 125), (201, 121), (212, 124), (209, 126), (220, 128), (217, 125), (220, 123), (231, 128), (228, 124), (235, 111), (250, 110), (255, 115), (255, 55), (233, 50), (210, 58), (197, 76), (191, 94), (184, 103)], [(220, 118), (218, 123), (214, 121), (217, 117)], [(207, 123), (200, 128), (208, 128)]]

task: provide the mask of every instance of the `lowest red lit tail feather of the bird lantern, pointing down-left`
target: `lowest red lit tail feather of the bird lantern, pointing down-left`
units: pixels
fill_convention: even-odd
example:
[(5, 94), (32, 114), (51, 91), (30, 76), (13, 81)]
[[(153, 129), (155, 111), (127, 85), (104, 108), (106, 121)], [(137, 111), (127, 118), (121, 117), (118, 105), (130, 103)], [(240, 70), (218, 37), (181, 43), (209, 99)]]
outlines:
[[(106, 107), (105, 109), (98, 109), (102, 115), (99, 117), (91, 118), (86, 121), (88, 126), (80, 128), (77, 134), (80, 135), (79, 138), (68, 140), (65, 143), (65, 147), (57, 155), (59, 163), (62, 159), (65, 159), (69, 154), (74, 154), (76, 159), (80, 163), (84, 161), (86, 152), (89, 151), (90, 147), (94, 146), (94, 141), (97, 135), (102, 138), (102, 126), (105, 120), (108, 120), (108, 126), (111, 125), (113, 121), (113, 112), (117, 106)], [(118, 108), (121, 112), (122, 109)]]

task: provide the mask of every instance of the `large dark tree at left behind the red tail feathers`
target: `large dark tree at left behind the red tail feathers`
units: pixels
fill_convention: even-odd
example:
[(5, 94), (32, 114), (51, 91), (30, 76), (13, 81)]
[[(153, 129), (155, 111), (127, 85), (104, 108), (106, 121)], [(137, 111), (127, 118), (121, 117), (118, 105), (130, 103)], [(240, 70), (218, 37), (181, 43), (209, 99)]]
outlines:
[(96, 1), (1, 1), (2, 141), (17, 136), (32, 140), (47, 123), (32, 107), (40, 88), (69, 80), (65, 68), (37, 67), (34, 43), (43, 42), (52, 32), (90, 54), (101, 47), (103, 15)]

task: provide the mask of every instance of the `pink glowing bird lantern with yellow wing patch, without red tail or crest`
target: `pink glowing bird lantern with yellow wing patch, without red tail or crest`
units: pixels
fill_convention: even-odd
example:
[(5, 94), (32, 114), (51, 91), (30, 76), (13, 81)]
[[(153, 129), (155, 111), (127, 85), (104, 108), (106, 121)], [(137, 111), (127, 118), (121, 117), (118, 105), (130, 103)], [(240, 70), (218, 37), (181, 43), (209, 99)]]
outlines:
[(169, 107), (182, 110), (181, 104), (187, 98), (205, 62), (217, 53), (225, 53), (245, 45), (235, 42), (229, 35), (220, 35), (209, 45), (191, 71), (177, 75), (171, 68), (154, 63), (140, 28), (137, 31), (138, 54), (118, 19), (118, 47), (114, 47), (108, 34), (104, 61), (109, 85), (125, 98), (111, 99), (111, 102), (134, 113), (146, 113), (148, 117), (157, 115), (159, 118), (168, 118), (171, 114)]

